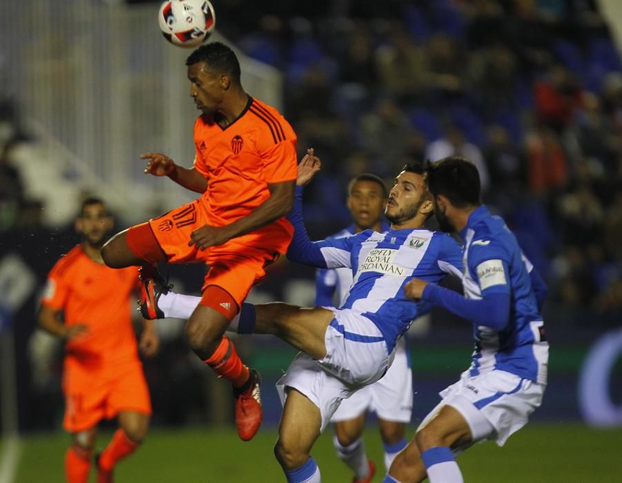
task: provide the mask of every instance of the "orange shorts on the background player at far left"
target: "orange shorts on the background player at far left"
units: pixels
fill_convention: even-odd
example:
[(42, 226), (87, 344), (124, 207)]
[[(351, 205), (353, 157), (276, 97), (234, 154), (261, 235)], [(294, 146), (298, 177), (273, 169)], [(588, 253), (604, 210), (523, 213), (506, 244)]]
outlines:
[(86, 431), (122, 411), (151, 415), (149, 390), (139, 360), (106, 371), (86, 370), (66, 362), (63, 392), (63, 427), (69, 433)]

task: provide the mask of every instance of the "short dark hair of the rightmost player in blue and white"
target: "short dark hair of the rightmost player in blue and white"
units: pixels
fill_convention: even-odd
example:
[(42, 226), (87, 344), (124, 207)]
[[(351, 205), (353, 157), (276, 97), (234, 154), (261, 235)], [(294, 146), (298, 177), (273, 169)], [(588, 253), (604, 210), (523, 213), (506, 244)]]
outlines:
[(433, 196), (443, 195), (456, 208), (481, 204), (479, 172), (464, 157), (449, 156), (430, 163), (427, 186)]

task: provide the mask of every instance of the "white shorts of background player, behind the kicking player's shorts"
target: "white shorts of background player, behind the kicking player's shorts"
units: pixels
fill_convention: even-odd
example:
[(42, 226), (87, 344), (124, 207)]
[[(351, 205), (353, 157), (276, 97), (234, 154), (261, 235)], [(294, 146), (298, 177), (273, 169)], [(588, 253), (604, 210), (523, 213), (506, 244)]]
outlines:
[(344, 399), (331, 422), (353, 420), (366, 411), (386, 421), (409, 423), (413, 410), (413, 375), (405, 337), (396, 344), (395, 358), (380, 380)]

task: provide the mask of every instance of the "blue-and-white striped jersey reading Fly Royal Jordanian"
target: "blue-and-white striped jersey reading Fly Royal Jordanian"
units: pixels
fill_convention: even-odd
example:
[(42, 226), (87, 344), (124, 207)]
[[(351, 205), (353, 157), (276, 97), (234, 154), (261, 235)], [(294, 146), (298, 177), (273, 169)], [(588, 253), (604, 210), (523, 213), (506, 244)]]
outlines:
[[(300, 196), (300, 190), (298, 195)], [(300, 197), (288, 215), (294, 225), (287, 256), (318, 268), (350, 268), (353, 284), (340, 308), (349, 308), (375, 324), (389, 353), (411, 321), (429, 310), (429, 303), (406, 297), (413, 278), (439, 282), (447, 273), (462, 272), (462, 248), (446, 233), (425, 228), (365, 230), (350, 237), (311, 242), (302, 223)]]

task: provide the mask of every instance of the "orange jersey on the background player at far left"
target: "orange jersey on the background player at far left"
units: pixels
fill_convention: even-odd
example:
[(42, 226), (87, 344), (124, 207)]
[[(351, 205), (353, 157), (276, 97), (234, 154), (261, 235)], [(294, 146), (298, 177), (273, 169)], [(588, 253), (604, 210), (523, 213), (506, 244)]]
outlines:
[(64, 323), (86, 324), (88, 334), (69, 341), (66, 362), (91, 369), (137, 360), (131, 299), (138, 286), (136, 267), (116, 270), (72, 248), (50, 270), (41, 303), (64, 311)]

